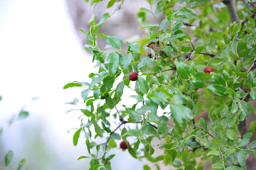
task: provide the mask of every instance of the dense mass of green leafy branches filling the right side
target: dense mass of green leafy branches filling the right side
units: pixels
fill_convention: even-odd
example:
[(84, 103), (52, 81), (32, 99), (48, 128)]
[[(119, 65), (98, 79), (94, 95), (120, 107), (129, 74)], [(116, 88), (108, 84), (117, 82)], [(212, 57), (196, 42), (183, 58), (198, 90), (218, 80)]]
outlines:
[[(85, 1), (92, 10), (101, 3)], [(242, 135), (238, 124), (250, 110), (256, 113), (249, 103), (256, 100), (254, 3), (237, 1), (241, 22), (232, 23), (221, 0), (145, 2), (137, 11), (139, 29), (147, 31), (140, 42), (125, 44), (117, 36), (99, 34), (123, 0), (110, 0), (107, 8), (119, 3), (113, 13), (92, 16), (90, 30), (83, 31), (89, 41), (84, 47), (100, 67), (89, 75), (91, 83), (64, 86), (85, 88), (86, 108), (81, 109), (82, 123), (73, 144), (82, 134), (89, 154), (79, 159), (91, 158), (90, 170), (111, 170), (115, 155), (109, 152), (123, 140), (129, 141), (131, 156), (154, 162), (159, 170), (161, 161), (178, 170), (203, 170), (203, 161), (213, 169), (246, 169), (248, 155), (256, 156), (256, 141), (249, 144), (256, 122)], [(164, 19), (157, 20), (157, 15)], [(100, 38), (110, 49), (97, 46)], [(213, 71), (204, 71), (207, 67)], [(131, 72), (138, 73), (135, 82), (128, 78)], [(123, 99), (128, 89), (135, 94)], [(128, 100), (129, 106), (121, 105), (122, 100)], [(207, 121), (198, 118), (203, 111)], [(110, 123), (113, 119), (116, 124)], [(97, 143), (97, 138), (105, 142)], [(155, 149), (162, 150), (162, 155), (155, 157)]]

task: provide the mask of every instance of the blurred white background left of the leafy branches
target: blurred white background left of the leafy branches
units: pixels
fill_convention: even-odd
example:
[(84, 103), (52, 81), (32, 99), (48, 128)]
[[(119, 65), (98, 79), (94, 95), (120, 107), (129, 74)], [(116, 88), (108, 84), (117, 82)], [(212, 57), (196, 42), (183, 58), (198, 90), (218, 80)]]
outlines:
[[(90, 83), (88, 75), (98, 71), (76, 31), (65, 0), (0, 0), (0, 127), (4, 128), (0, 166), (13, 150), (11, 170), (22, 158), (26, 158), (24, 170), (89, 169), (89, 159), (77, 161), (88, 156), (85, 139), (81, 136), (73, 146), (75, 130), (67, 133), (80, 126), (81, 115), (66, 114), (67, 110), (81, 107), (64, 105), (75, 97), (82, 102), (82, 90), (63, 86), (72, 81)], [(30, 102), (33, 97), (39, 99)], [(25, 105), (29, 117), (8, 127), (9, 119)], [(113, 153), (112, 170), (142, 169), (128, 151)]]

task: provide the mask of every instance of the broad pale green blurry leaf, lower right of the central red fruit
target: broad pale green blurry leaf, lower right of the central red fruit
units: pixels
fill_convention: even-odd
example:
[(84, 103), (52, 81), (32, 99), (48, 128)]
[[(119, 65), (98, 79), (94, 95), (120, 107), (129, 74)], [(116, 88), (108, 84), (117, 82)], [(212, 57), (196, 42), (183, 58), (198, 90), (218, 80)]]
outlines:
[(172, 112), (172, 118), (179, 123), (184, 123), (187, 119), (193, 119), (192, 111), (186, 106), (181, 104), (172, 104), (170, 105), (170, 109)]

